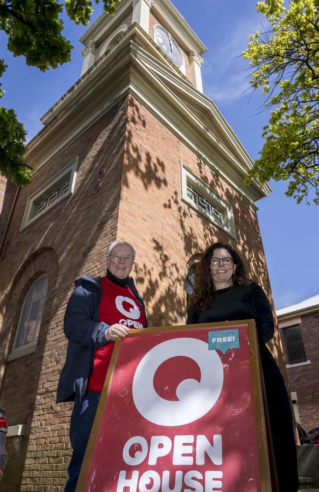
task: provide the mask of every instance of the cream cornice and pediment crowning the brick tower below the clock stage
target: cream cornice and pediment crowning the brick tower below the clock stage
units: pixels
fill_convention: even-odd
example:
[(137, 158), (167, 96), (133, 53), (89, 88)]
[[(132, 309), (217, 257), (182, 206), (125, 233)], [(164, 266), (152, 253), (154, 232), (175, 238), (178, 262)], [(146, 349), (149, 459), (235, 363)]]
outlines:
[[(166, 58), (137, 24), (131, 26), (46, 113), (45, 128), (28, 144), (27, 162), (37, 170), (49, 164), (130, 92), (250, 203), (266, 196), (267, 185), (243, 186), (251, 159), (213, 101), (181, 77)], [(193, 105), (212, 128), (192, 111)], [(214, 136), (214, 126), (225, 143)]]

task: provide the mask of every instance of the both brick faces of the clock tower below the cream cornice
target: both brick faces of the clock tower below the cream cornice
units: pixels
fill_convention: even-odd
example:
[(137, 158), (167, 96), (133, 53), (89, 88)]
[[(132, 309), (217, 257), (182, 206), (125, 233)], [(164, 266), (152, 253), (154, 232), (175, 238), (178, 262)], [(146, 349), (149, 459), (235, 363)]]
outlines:
[[(75, 155), (80, 161), (73, 195), (19, 232), (27, 197)], [(237, 241), (181, 201), (181, 162), (233, 206)], [(92, 195), (103, 166), (102, 186)], [(250, 274), (269, 292), (256, 211), (132, 96), (125, 98), (40, 171), (19, 196), (8, 234), (12, 246), (3, 262), (8, 289), (2, 299), (6, 311), (0, 355), (6, 372), (2, 371), (1, 401), (9, 423), (24, 419), (31, 431), (19, 456), (10, 451), (11, 471), (0, 483), (0, 491), (19, 490), (18, 480), (13, 483), (11, 475), (15, 469), (21, 477), (23, 468), (21, 491), (63, 491), (71, 454), (68, 427), (72, 408), (68, 403), (55, 404), (67, 346), (63, 315), (73, 280), (84, 273), (103, 274), (107, 246), (115, 238), (131, 242), (137, 251), (133, 276), (146, 301), (151, 326), (185, 322), (187, 262), (216, 240), (238, 247)], [(44, 259), (50, 255), (52, 265), (47, 265)], [(39, 348), (6, 363), (18, 307), (39, 262), (49, 275)], [(22, 374), (30, 380), (30, 390), (19, 384), (22, 389), (14, 400), (12, 385)]]

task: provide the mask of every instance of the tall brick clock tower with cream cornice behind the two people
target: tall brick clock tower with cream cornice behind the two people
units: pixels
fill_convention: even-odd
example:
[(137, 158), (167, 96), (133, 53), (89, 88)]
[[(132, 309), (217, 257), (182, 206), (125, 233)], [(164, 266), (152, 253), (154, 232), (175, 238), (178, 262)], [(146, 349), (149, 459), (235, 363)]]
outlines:
[[(255, 205), (269, 187), (243, 185), (252, 161), (202, 92), (205, 45), (169, 0), (122, 0), (81, 41), (80, 79), (28, 144), (32, 183), (16, 198), (0, 183), (0, 388), (11, 429), (0, 491), (63, 490), (63, 315), (74, 279), (104, 275), (110, 242), (137, 251), (150, 326), (185, 322), (187, 274), (217, 240), (238, 248), (271, 300)], [(278, 333), (271, 348), (280, 363)]]

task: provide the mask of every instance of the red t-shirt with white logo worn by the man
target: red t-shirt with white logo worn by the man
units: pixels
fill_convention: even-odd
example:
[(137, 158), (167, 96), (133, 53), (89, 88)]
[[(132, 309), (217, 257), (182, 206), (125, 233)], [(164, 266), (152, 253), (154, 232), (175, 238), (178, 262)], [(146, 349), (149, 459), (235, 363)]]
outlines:
[[(101, 287), (99, 321), (104, 321), (108, 325), (120, 323), (130, 328), (145, 326), (146, 316), (131, 289), (116, 285), (107, 277), (101, 278)], [(88, 391), (101, 393), (113, 347), (114, 342), (111, 341), (104, 347), (97, 348)]]

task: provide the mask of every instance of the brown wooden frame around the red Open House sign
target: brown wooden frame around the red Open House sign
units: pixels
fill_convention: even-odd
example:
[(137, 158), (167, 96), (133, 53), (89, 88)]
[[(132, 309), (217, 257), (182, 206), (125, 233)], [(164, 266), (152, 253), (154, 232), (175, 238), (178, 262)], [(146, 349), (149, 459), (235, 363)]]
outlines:
[[(164, 326), (158, 328), (147, 328), (147, 329), (134, 329), (130, 330), (126, 339), (137, 337), (143, 339), (145, 335), (149, 334), (171, 334), (181, 333), (181, 336), (185, 337), (187, 332), (197, 332), (200, 330), (207, 330), (207, 332), (218, 332), (224, 330), (239, 330), (240, 333), (244, 333), (242, 330), (246, 330), (248, 333), (248, 345), (249, 345), (249, 356), (250, 356), (250, 371), (251, 371), (251, 381), (252, 381), (252, 397), (253, 397), (253, 408), (255, 413), (255, 431), (256, 431), (256, 443), (257, 443), (257, 455), (258, 455), (258, 467), (259, 467), (259, 484), (257, 487), (248, 487), (247, 492), (270, 492), (272, 490), (271, 482), (273, 483), (273, 477), (270, 477), (269, 471), (269, 461), (268, 461), (268, 445), (267, 445), (267, 432), (269, 439), (269, 425), (267, 423), (267, 416), (265, 417), (265, 390), (263, 387), (263, 376), (261, 372), (260, 357), (259, 357), (259, 346), (258, 338), (256, 332), (256, 325), (254, 320), (240, 320), (231, 322), (221, 322), (221, 323), (204, 323), (196, 325), (183, 325), (183, 326)], [(246, 333), (246, 332), (245, 332)], [(90, 462), (94, 453), (94, 448), (98, 442), (98, 436), (100, 431), (101, 421), (106, 408), (106, 403), (108, 402), (110, 388), (112, 385), (112, 379), (114, 371), (116, 369), (116, 363), (121, 353), (121, 347), (124, 346), (126, 339), (118, 338), (115, 342), (112, 357), (106, 374), (106, 380), (101, 394), (101, 399), (95, 416), (94, 424), (90, 434), (89, 442), (86, 448), (85, 457), (82, 463), (80, 477), (78, 480), (78, 485), (76, 492), (108, 492), (106, 488), (95, 488), (94, 486), (87, 488), (86, 481), (88, 479), (88, 472), (90, 467)], [(233, 350), (233, 349), (231, 349)], [(101, 428), (102, 429), (102, 428)], [(110, 443), (107, 444), (108, 446)], [(271, 452), (270, 452), (271, 461)], [(276, 479), (275, 479), (276, 481)], [(114, 489), (116, 491), (116, 488)], [(126, 490), (129, 490), (128, 488)], [(138, 491), (139, 489), (137, 489)], [(146, 489), (145, 489), (146, 490)], [(184, 489), (182, 489), (184, 490)], [(188, 489), (190, 490), (190, 489)], [(212, 490), (212, 489), (210, 489)], [(218, 491), (218, 488), (213, 489)], [(225, 489), (222, 487), (223, 492), (229, 492), (231, 489)], [(233, 489), (232, 489), (233, 490)], [(234, 489), (235, 490), (235, 489)], [(161, 488), (160, 488), (161, 491)], [(205, 491), (205, 487), (204, 487)]]

